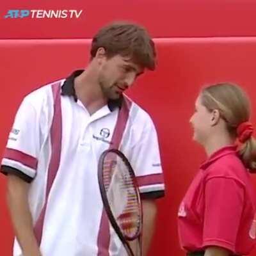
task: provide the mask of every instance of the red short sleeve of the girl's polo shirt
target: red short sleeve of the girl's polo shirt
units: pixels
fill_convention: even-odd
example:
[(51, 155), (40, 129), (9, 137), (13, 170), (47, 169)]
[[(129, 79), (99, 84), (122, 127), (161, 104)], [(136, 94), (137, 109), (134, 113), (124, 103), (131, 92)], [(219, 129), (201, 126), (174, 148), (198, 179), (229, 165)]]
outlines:
[(214, 177), (205, 184), (203, 246), (220, 246), (235, 252), (244, 188), (237, 180)]

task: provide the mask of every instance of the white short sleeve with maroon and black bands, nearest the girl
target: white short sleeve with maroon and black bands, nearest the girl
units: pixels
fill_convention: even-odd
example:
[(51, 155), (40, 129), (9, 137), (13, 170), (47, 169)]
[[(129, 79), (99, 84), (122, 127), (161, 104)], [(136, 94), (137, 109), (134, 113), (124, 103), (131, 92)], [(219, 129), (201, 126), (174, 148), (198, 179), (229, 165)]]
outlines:
[(140, 186), (141, 198), (164, 196), (164, 179), (157, 133), (150, 118), (143, 128), (138, 143), (132, 148), (131, 165)]

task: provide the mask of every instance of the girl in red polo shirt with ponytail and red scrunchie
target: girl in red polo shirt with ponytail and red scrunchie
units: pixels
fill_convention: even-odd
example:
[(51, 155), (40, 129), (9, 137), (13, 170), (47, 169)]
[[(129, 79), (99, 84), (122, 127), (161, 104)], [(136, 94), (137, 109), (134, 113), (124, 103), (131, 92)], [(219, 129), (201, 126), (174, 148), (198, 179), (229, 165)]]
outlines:
[(189, 256), (248, 255), (256, 241), (249, 99), (237, 85), (208, 86), (190, 122), (208, 158), (180, 204), (180, 244)]

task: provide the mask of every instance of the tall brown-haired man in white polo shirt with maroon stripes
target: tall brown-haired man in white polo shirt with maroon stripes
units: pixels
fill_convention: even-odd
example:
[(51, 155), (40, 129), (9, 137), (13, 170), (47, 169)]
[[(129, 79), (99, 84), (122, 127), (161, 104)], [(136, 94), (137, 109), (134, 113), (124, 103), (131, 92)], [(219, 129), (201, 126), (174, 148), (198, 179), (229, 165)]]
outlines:
[(110, 147), (136, 172), (147, 253), (163, 175), (154, 124), (124, 92), (154, 70), (154, 42), (141, 26), (115, 22), (94, 36), (90, 53), (85, 70), (29, 93), (15, 116), (1, 163), (14, 256), (124, 255), (97, 179), (100, 154)]

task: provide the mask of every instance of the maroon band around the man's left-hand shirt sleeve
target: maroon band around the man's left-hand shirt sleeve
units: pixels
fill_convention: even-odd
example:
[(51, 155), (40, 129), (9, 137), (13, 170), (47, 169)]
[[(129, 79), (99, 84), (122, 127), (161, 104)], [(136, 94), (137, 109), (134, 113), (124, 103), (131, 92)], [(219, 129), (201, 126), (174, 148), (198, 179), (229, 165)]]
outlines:
[(5, 148), (3, 158), (19, 162), (25, 166), (28, 166), (29, 168), (32, 168), (36, 172), (37, 159), (33, 156), (25, 154), (24, 152), (13, 148)]

